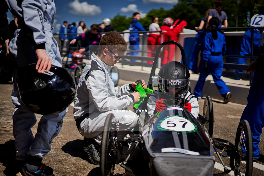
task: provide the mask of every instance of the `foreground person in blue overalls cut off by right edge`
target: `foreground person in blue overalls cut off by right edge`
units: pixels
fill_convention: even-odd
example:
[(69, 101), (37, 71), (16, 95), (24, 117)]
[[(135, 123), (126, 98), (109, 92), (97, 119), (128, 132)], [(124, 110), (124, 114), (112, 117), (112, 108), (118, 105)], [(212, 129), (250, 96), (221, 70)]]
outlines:
[(246, 69), (247, 72), (254, 72), (252, 84), (247, 97), (247, 105), (243, 111), (240, 121), (247, 120), (251, 127), (253, 141), (253, 161), (259, 159), (259, 142), (262, 128), (264, 127), (264, 55), (254, 60)]

